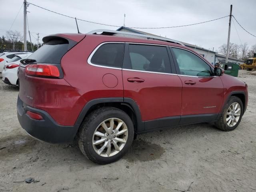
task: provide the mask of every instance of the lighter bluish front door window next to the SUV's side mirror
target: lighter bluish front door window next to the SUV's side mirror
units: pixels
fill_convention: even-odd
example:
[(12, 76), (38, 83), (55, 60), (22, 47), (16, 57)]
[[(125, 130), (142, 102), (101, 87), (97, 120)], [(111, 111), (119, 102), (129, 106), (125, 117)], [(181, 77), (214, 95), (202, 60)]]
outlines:
[(172, 48), (172, 50), (182, 75), (200, 77), (212, 75), (210, 66), (195, 54), (178, 48)]

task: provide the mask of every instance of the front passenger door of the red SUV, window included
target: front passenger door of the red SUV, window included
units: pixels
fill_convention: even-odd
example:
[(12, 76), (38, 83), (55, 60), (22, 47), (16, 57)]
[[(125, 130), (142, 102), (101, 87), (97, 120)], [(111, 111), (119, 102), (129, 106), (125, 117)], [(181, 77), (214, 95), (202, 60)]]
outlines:
[(223, 100), (223, 84), (213, 69), (194, 52), (172, 48), (182, 81), (180, 124), (214, 120)]

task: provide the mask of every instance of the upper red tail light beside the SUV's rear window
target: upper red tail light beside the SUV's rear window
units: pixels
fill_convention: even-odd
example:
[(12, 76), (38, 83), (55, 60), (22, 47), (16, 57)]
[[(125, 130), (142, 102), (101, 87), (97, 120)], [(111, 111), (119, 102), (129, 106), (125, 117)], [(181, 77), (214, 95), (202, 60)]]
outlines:
[(55, 65), (30, 64), (26, 66), (26, 75), (59, 77), (60, 72)]

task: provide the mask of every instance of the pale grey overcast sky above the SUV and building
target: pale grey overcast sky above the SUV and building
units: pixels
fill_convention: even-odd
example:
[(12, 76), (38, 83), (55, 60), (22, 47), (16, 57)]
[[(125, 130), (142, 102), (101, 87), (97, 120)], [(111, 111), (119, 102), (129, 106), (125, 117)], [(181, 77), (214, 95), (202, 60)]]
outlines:
[[(72, 17), (116, 26), (123, 25), (125, 13), (127, 27), (179, 26), (203, 22), (229, 15), (230, 4), (233, 4), (232, 14), (246, 30), (256, 36), (256, 0), (28, 0), (28, 2)], [(1, 36), (10, 29), (22, 3), (23, 0), (0, 0)], [(48, 34), (77, 32), (75, 20), (72, 18), (60, 16), (33, 5), (30, 5), (27, 10), (29, 11), (29, 30), (34, 32), (32, 42), (36, 41), (37, 32), (40, 33), (39, 39)], [(117, 27), (82, 21), (78, 21), (78, 26), (82, 33), (95, 29), (117, 29)], [(256, 44), (256, 37), (246, 33), (236, 22), (235, 26), (237, 32), (232, 22), (230, 42), (237, 44), (247, 42), (249, 46)], [(23, 8), (11, 30), (23, 31)], [(214, 47), (216, 50), (221, 44), (227, 42), (228, 17), (195, 26), (142, 30), (196, 44), (206, 49)]]

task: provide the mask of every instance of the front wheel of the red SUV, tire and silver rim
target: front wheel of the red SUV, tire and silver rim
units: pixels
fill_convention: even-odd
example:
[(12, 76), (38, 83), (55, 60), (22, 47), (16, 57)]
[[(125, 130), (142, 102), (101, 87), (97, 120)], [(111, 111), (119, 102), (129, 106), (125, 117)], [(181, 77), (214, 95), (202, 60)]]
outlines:
[[(231, 115), (229, 115), (230, 109), (232, 109), (232, 104), (235, 104), (235, 105), (238, 104), (237, 109), (240, 107), (240, 110), (237, 112), (237, 114), (240, 112), (239, 119), (236, 118), (236, 117), (238, 117), (237, 114), (234, 114), (234, 112), (233, 112), (233, 114), (234, 114), (233, 117), (236, 118), (236, 120), (234, 120), (234, 121), (232, 120), (232, 112), (231, 112)], [(243, 116), (243, 111), (244, 111), (244, 106), (243, 106), (243, 103), (240, 100), (240, 98), (238, 98), (236, 96), (231, 96), (230, 99), (228, 100), (228, 102), (226, 103), (226, 105), (224, 106), (224, 108), (220, 114), (220, 117), (215, 122), (216, 127), (222, 131), (234, 130), (239, 125), (239, 123), (241, 121), (241, 118)], [(227, 119), (230, 118), (230, 116), (231, 116), (231, 122), (230, 122), (230, 119), (227, 121)], [(232, 125), (232, 121), (235, 124)], [(237, 122), (235, 122), (235, 121), (237, 121)], [(228, 122), (230, 122), (230, 124), (228, 124)]]

